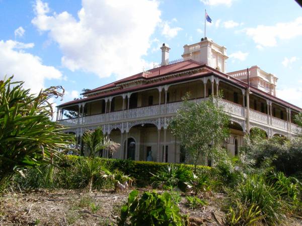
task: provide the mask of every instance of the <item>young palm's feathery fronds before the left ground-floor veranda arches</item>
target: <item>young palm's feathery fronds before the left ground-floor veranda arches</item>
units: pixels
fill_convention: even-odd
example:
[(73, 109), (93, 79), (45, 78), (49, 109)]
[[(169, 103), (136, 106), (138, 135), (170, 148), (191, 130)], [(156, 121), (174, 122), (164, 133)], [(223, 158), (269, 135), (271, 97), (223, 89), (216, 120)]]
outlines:
[(109, 150), (111, 153), (116, 151), (119, 144), (111, 141), (107, 136), (104, 136), (101, 127), (95, 130), (88, 130), (83, 135), (84, 145), (89, 151), (89, 157), (95, 157), (102, 150)]

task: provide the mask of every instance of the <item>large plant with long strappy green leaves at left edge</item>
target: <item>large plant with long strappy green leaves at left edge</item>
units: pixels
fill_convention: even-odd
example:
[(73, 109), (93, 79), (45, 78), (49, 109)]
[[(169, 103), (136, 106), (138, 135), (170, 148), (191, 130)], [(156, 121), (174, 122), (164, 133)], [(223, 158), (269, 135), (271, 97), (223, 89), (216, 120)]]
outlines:
[(61, 86), (34, 95), (23, 88), (24, 82), (12, 79), (0, 80), (0, 191), (15, 173), (23, 174), (26, 166), (54, 164), (58, 151), (73, 138), (62, 132), (63, 126), (51, 121), (49, 101), (63, 96)]

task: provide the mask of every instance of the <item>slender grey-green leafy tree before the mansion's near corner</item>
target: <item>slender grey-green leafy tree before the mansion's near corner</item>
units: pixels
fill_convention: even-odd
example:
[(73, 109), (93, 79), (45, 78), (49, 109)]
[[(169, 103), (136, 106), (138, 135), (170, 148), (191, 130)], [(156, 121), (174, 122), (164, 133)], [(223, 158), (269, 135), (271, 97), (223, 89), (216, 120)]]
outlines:
[(192, 157), (194, 171), (200, 156), (215, 157), (215, 148), (229, 136), (229, 116), (218, 104), (219, 99), (212, 97), (197, 103), (189, 101), (187, 95), (169, 123), (172, 134), (180, 139)]

